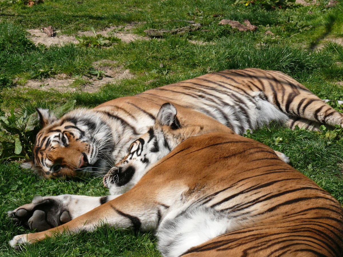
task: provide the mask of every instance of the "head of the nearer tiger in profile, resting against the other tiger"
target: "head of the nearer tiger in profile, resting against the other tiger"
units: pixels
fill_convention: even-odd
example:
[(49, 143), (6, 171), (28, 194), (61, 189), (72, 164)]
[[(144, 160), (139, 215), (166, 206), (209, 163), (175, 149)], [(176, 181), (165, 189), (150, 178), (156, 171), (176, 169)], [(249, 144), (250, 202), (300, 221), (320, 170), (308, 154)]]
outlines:
[[(177, 110), (165, 103), (159, 110), (155, 124), (147, 133), (135, 140), (127, 155), (104, 176), (104, 186), (111, 195), (122, 194), (131, 189), (158, 160), (169, 154), (177, 145), (191, 136), (206, 133), (201, 125), (187, 124), (176, 117)], [(222, 129), (222, 126), (219, 126)], [(213, 130), (216, 126), (213, 124)], [(229, 133), (233, 133), (225, 127)]]

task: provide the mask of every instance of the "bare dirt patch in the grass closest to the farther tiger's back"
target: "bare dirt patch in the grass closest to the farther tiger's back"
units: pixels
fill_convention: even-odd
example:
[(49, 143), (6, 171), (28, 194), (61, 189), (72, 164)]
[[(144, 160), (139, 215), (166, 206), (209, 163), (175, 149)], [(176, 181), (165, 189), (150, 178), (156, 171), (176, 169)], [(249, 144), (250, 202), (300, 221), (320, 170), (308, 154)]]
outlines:
[(100, 79), (96, 77), (69, 77), (66, 74), (59, 74), (53, 78), (46, 78), (43, 80), (30, 79), (24, 85), (29, 88), (36, 88), (42, 90), (55, 89), (60, 92), (96, 92), (107, 83), (115, 83), (125, 78), (133, 78), (134, 75), (130, 70), (123, 70), (121, 67), (114, 67), (116, 62), (111, 60), (102, 60), (93, 63), (95, 69), (104, 71), (104, 76)]

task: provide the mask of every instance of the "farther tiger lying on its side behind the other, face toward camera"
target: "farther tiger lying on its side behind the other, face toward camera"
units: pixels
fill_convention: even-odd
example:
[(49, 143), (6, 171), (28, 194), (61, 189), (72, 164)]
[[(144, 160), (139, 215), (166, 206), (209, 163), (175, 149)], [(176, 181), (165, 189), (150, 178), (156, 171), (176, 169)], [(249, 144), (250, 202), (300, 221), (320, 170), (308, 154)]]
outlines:
[(271, 121), (291, 128), (343, 126), (343, 114), (281, 72), (227, 70), (114, 99), (90, 110), (74, 110), (60, 119), (38, 109), (42, 130), (32, 160), (22, 166), (44, 178), (104, 175), (125, 156), (130, 143), (154, 124), (165, 102), (175, 105), (187, 125), (222, 123), (238, 134)]

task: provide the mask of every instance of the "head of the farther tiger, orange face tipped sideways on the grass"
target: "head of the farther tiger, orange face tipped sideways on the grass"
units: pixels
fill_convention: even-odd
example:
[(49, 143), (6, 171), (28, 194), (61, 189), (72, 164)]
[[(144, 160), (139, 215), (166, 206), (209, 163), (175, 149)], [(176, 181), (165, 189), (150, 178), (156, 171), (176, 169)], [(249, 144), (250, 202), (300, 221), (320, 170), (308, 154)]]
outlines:
[(37, 108), (37, 112), (42, 129), (36, 136), (32, 160), (23, 163), (23, 168), (43, 178), (105, 173), (111, 131), (97, 115), (79, 109), (57, 119), (46, 109)]

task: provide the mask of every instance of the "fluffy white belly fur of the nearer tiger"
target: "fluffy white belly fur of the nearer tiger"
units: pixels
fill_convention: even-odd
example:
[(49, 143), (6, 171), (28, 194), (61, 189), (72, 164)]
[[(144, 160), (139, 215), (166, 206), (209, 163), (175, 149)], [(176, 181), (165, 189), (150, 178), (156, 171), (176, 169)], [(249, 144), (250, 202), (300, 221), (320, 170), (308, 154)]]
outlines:
[(235, 218), (212, 208), (192, 205), (183, 209), (168, 213), (157, 229), (158, 249), (163, 256), (180, 256), (194, 246), (242, 227)]

